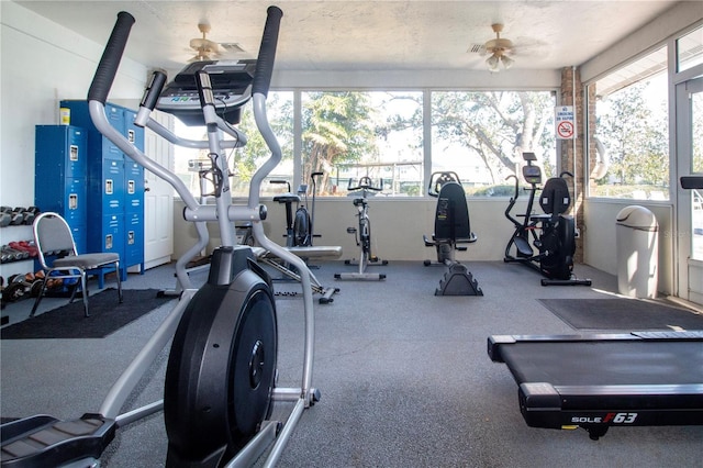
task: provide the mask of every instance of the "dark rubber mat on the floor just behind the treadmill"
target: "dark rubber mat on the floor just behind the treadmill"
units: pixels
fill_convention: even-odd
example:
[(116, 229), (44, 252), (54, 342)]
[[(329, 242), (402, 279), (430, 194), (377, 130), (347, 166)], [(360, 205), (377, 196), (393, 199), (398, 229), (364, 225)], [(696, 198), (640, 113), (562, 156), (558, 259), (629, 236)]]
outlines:
[(539, 299), (576, 330), (703, 330), (703, 315), (638, 299)]

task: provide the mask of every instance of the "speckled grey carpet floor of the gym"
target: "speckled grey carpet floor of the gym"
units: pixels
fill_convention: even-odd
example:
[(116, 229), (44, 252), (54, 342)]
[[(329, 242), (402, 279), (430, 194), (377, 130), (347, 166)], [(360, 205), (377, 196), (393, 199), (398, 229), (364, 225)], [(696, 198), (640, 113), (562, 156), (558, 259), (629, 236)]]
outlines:
[[(593, 280), (591, 288), (544, 288), (536, 272), (518, 265), (473, 263), (469, 270), (483, 297), (435, 297), (442, 267), (391, 261), (373, 268), (387, 279), (335, 281), (335, 272), (355, 270), (342, 261), (314, 270), (323, 283), (341, 288), (333, 303), (315, 302), (313, 382), (322, 400), (303, 414), (279, 466), (701, 466), (703, 426), (611, 428), (598, 442), (584, 431), (527, 427), (510, 371), (487, 355), (492, 334), (577, 334), (539, 299), (615, 297), (615, 277), (578, 266), (579, 277)], [(204, 279), (193, 275), (194, 281)], [(124, 282), (135, 289), (172, 285), (170, 266)], [(22, 309), (31, 308), (25, 302), (3, 313), (21, 320)], [(279, 385), (299, 386), (302, 300), (281, 296), (277, 308)], [(165, 304), (102, 339), (2, 342), (2, 416), (97, 411), (169, 309)], [(165, 364), (163, 353), (130, 409), (161, 397)], [(280, 404), (275, 413), (287, 410)], [(120, 430), (102, 466), (158, 467), (165, 453), (163, 417), (156, 414)]]

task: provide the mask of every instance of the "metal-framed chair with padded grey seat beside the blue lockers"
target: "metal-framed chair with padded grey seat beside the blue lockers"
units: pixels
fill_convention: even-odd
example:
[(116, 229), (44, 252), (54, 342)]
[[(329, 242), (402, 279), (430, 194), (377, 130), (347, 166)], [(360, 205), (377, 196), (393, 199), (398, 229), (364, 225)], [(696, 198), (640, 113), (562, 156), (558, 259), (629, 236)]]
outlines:
[[(44, 297), (46, 283), (53, 279), (80, 278), (83, 309), (88, 313), (88, 287), (86, 276), (90, 270), (114, 268), (118, 279), (118, 299), (122, 303), (122, 282), (120, 280), (120, 255), (111, 253), (81, 254), (76, 250), (71, 230), (59, 214), (41, 213), (32, 225), (34, 243), (38, 250), (38, 259), (44, 270), (44, 281), (34, 301), (30, 316), (34, 316)], [(74, 301), (78, 285), (74, 287), (69, 303)]]

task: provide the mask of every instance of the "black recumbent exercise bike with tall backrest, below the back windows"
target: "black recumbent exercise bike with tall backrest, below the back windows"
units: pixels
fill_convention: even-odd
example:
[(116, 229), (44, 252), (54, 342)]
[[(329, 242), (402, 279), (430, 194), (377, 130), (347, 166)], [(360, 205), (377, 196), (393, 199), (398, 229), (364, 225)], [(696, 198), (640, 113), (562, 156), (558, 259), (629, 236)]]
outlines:
[(424, 260), (423, 265), (447, 267), (435, 296), (483, 296), (483, 291), (467, 267), (456, 260), (457, 250), (466, 250), (462, 244), (478, 241), (471, 231), (469, 208), (461, 180), (456, 172), (434, 172), (429, 177), (427, 194), (437, 199), (435, 231), (432, 238), (423, 234), (425, 247), (435, 247), (437, 263)]

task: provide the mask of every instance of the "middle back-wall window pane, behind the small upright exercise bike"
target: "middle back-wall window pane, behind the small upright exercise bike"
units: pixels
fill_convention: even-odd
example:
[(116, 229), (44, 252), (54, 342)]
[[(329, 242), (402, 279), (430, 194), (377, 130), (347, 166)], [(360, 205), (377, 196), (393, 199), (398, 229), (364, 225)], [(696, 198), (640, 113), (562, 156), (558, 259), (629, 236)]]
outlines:
[(308, 91), (301, 102), (303, 183), (323, 172), (319, 194), (344, 196), (370, 177), (381, 194), (421, 194), (422, 92)]

